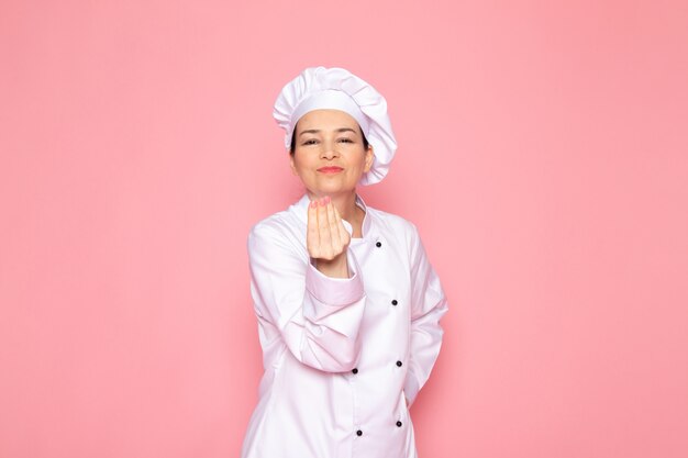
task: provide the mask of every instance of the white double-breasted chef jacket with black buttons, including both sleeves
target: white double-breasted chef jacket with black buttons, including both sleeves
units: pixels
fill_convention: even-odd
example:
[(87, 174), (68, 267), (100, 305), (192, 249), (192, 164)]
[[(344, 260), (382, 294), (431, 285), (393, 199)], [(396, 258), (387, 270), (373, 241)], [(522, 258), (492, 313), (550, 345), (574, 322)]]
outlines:
[(408, 406), (440, 353), (440, 279), (417, 227), (360, 196), (351, 277), (321, 273), (306, 245), (309, 203), (303, 194), (248, 235), (265, 372), (241, 457), (415, 458)]

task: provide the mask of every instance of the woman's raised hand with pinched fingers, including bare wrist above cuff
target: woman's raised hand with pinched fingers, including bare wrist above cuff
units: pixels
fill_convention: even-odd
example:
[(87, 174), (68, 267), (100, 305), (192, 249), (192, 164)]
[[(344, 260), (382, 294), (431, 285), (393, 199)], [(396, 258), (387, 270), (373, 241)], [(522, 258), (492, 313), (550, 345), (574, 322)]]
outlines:
[(306, 245), (315, 268), (328, 277), (348, 278), (346, 248), (351, 235), (329, 196), (311, 201), (308, 208)]

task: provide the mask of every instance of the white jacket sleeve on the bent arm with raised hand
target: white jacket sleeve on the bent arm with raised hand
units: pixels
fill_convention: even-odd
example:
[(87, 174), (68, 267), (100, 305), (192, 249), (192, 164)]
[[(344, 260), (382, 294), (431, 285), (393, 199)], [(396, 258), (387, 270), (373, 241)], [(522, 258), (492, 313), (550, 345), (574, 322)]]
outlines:
[(302, 364), (328, 372), (353, 369), (360, 356), (365, 308), (360, 269), (347, 250), (349, 278), (331, 278), (279, 228), (258, 224), (248, 235), (251, 294)]

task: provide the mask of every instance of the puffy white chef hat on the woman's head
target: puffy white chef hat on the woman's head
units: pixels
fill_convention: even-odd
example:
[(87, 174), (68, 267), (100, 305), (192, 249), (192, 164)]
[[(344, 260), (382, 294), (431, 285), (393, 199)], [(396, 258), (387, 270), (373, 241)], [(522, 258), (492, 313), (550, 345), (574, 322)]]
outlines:
[(285, 147), (291, 146), (297, 121), (309, 111), (335, 109), (348, 113), (373, 145), (373, 166), (360, 185), (381, 181), (397, 150), (387, 115), (387, 101), (373, 86), (344, 68), (310, 67), (289, 81), (275, 101), (273, 116), (286, 131)]

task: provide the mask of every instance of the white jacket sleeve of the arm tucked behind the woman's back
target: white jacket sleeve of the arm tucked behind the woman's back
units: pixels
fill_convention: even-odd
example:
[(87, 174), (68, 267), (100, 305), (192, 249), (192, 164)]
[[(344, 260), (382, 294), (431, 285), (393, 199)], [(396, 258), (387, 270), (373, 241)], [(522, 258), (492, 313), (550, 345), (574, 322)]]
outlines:
[(418, 228), (413, 224), (411, 227), (411, 351), (403, 387), (409, 406), (437, 359), (444, 334), (440, 320), (448, 310), (440, 278), (430, 265)]

